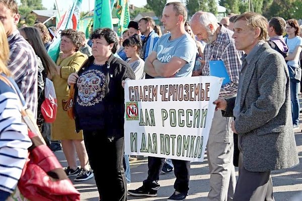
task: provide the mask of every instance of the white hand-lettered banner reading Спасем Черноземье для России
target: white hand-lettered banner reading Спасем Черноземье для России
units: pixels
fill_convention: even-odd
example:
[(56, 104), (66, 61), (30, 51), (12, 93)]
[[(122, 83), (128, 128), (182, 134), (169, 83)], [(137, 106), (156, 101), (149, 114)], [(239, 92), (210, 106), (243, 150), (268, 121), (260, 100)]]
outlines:
[(126, 81), (125, 154), (203, 161), (222, 80)]

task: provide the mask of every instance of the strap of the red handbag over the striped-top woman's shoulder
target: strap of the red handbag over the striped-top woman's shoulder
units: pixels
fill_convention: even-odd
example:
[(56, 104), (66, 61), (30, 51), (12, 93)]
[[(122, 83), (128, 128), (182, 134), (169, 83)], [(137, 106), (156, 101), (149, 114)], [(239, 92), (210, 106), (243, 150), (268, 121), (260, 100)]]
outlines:
[(25, 104), (24, 97), (22, 96), (21, 91), (18, 88), (18, 86), (16, 85), (16, 83), (14, 84), (14, 82), (11, 82), (9, 78), (7, 78), (3, 75), (0, 75), (0, 80), (2, 80), (4, 83), (6, 83), (8, 86), (10, 86), (15, 91), (15, 93), (18, 95), (20, 105), (22, 106), (21, 115), (22, 115), (23, 121), (26, 123), (28, 129), (31, 130), (35, 135), (37, 135), (41, 139), (43, 144), (46, 145), (32, 111), (30, 109), (25, 109), (26, 104)]

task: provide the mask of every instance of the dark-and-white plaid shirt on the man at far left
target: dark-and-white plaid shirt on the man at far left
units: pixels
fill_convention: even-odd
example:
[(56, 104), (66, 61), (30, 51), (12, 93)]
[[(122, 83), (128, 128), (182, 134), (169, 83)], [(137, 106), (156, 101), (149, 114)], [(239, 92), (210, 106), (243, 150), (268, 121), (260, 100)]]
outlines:
[(10, 61), (8, 68), (30, 108), (37, 118), (38, 106), (38, 64), (35, 51), (20, 35), (18, 30), (8, 37)]

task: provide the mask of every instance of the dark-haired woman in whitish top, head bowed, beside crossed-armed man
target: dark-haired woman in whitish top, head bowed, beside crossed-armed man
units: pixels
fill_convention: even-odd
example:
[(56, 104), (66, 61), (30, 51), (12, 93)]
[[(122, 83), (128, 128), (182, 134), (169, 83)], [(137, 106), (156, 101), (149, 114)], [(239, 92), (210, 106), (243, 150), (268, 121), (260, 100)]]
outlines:
[(135, 80), (145, 78), (145, 73), (143, 71), (144, 61), (139, 57), (141, 46), (141, 40), (137, 34), (134, 34), (123, 42), (123, 47), (125, 48), (125, 53), (128, 57), (126, 61), (129, 63), (135, 74)]

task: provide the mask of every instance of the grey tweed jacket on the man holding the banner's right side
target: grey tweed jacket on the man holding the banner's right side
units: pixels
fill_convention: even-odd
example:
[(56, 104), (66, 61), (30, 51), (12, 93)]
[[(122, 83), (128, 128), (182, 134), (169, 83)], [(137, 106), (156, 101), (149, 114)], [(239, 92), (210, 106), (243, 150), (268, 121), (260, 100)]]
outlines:
[[(247, 66), (235, 129), (242, 135), (244, 168), (263, 172), (299, 163), (291, 119), (289, 77), (284, 58), (267, 43)], [(235, 98), (224, 116), (233, 115)]]

